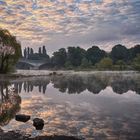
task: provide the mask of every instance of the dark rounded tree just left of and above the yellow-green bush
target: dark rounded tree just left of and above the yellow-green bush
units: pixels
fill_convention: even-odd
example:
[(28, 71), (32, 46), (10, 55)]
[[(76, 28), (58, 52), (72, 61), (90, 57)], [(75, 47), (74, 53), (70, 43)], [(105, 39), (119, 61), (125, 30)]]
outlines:
[(86, 52), (86, 57), (88, 61), (91, 61), (93, 65), (98, 63), (105, 56), (106, 56), (106, 52), (99, 49), (99, 47), (97, 46), (92, 46), (92, 48), (89, 48)]

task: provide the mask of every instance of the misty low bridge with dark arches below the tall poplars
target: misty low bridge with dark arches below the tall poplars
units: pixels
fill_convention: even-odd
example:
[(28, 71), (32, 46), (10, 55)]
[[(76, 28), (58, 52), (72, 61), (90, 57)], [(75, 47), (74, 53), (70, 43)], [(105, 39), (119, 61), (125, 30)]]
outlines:
[(49, 62), (46, 60), (30, 60), (30, 59), (20, 59), (17, 64), (19, 69), (40, 69), (42, 66), (48, 65)]

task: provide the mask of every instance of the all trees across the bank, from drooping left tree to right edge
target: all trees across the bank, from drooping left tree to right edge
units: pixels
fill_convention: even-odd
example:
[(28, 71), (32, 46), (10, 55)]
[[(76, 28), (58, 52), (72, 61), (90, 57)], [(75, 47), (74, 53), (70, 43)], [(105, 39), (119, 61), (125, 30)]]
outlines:
[[(0, 73), (11, 71), (18, 59), (22, 57), (21, 45), (8, 30), (0, 29)], [(140, 70), (140, 45), (128, 49), (115, 45), (110, 52), (92, 46), (85, 50), (81, 47), (60, 48), (52, 57), (47, 54), (45, 46), (38, 53), (32, 48), (25, 48), (25, 59), (38, 59), (48, 62), (53, 69), (86, 70)], [(42, 67), (47, 69), (48, 64)]]

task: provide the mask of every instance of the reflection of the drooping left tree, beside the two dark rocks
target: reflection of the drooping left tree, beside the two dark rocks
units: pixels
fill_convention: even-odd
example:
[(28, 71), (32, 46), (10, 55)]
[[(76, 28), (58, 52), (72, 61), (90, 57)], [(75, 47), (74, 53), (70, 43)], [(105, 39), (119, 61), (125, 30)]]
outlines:
[(20, 96), (8, 87), (8, 82), (0, 82), (0, 125), (8, 124), (20, 110)]

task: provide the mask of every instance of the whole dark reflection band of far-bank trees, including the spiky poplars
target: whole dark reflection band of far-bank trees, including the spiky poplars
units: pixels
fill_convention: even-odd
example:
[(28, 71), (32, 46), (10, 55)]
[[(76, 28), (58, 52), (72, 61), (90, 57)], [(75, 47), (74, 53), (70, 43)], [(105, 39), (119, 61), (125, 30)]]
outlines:
[(38, 87), (41, 93), (46, 92), (47, 85), (53, 83), (54, 88), (62, 93), (79, 94), (85, 90), (93, 94), (99, 94), (105, 88), (111, 86), (114, 93), (123, 94), (129, 90), (140, 94), (140, 77), (122, 76), (122, 75), (70, 75), (52, 78), (42, 78), (13, 82), (18, 93), (22, 91), (32, 92), (34, 87)]

